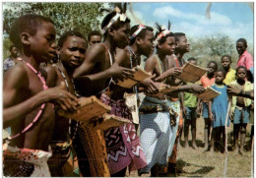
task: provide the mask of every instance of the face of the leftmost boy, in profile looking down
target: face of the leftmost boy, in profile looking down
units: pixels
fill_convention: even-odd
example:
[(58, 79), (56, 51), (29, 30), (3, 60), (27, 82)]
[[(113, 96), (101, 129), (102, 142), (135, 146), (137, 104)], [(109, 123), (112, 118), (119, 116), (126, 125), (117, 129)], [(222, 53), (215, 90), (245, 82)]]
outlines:
[(51, 23), (42, 22), (34, 35), (30, 35), (31, 52), (39, 62), (49, 62), (56, 55), (56, 31)]

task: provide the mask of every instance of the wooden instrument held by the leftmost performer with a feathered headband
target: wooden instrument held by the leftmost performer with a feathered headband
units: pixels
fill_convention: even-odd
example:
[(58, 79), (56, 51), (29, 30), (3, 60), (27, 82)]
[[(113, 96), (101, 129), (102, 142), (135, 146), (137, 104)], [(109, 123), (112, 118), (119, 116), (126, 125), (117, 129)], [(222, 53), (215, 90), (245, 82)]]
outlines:
[(118, 81), (117, 85), (121, 86), (122, 88), (130, 89), (151, 76), (151, 73), (144, 71), (140, 66), (134, 67), (132, 71), (134, 71), (133, 78), (125, 79), (123, 82)]

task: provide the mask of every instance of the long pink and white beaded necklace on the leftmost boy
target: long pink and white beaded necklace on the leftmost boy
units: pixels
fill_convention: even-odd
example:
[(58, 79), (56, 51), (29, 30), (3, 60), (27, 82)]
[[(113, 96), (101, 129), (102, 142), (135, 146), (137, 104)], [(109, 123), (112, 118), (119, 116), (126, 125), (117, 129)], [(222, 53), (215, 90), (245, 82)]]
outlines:
[[(39, 81), (42, 84), (43, 90), (48, 89), (48, 87), (46, 86), (45, 80), (44, 80), (44, 78), (42, 77), (42, 75), (39, 71), (36, 71), (30, 63), (24, 61), (22, 58), (19, 58), (18, 60), (24, 62), (32, 70), (32, 72), (39, 78)], [(22, 134), (27, 133), (32, 128), (32, 126), (38, 121), (44, 107), (45, 107), (45, 103), (42, 103), (41, 106), (40, 106), (40, 110), (37, 112), (37, 114), (33, 118), (32, 123), (29, 124), (22, 132), (16, 134), (15, 136), (8, 137), (7, 140), (12, 141), (12, 140), (18, 138), (19, 136), (21, 136)]]

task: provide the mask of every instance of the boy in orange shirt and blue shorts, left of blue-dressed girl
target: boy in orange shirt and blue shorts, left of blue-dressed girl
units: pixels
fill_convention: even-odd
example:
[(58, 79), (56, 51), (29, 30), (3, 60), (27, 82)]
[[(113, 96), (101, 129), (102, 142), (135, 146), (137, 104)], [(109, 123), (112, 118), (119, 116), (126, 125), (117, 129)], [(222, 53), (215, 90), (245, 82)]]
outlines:
[[(206, 76), (203, 76), (200, 79), (200, 82), (204, 88), (211, 87), (215, 84), (215, 72), (218, 70), (218, 64), (215, 61), (210, 61), (207, 65), (208, 72)], [(201, 99), (198, 99), (198, 106), (199, 109)], [(211, 118), (209, 118), (209, 109), (208, 109), (208, 102), (203, 101), (203, 118), (205, 120), (205, 148), (204, 151), (208, 150), (209, 147), (209, 136), (211, 132)]]

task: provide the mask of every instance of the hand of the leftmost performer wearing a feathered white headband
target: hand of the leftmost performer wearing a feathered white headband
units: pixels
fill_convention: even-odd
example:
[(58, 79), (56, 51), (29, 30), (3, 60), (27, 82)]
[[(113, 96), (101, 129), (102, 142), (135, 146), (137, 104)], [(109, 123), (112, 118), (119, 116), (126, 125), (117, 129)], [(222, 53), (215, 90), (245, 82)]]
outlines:
[(111, 76), (115, 80), (123, 81), (124, 79), (133, 78), (133, 73), (131, 69), (124, 68), (119, 66), (117, 63), (114, 63), (110, 68), (109, 71)]

